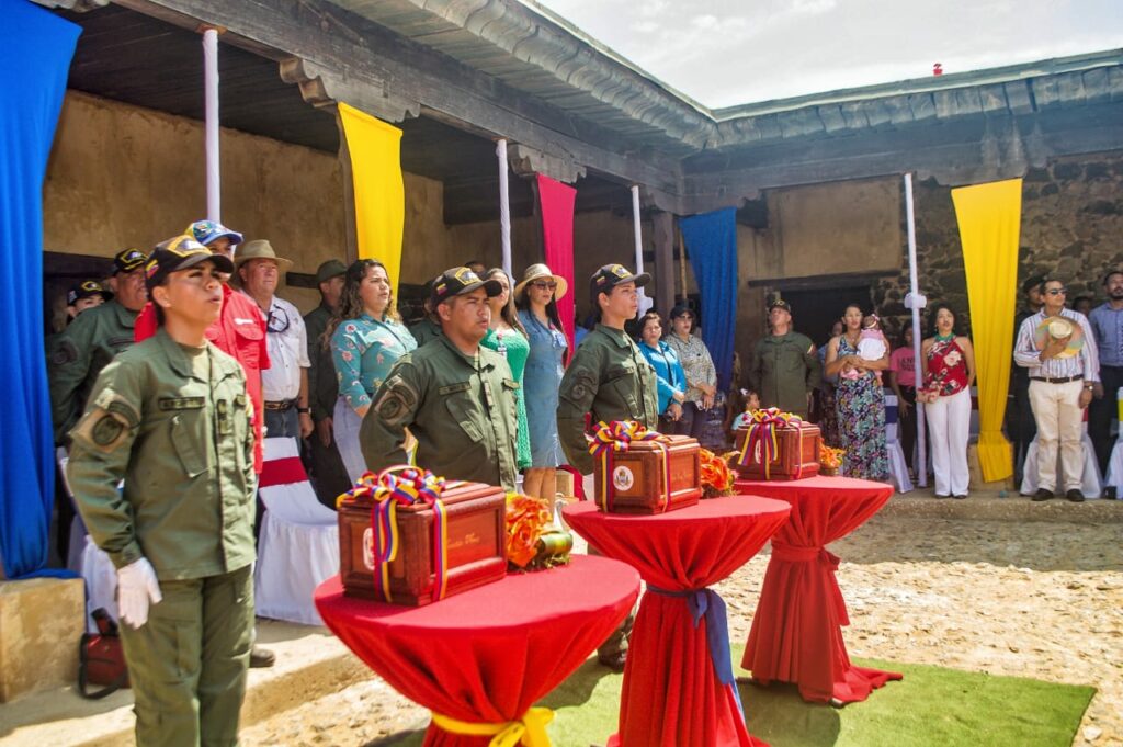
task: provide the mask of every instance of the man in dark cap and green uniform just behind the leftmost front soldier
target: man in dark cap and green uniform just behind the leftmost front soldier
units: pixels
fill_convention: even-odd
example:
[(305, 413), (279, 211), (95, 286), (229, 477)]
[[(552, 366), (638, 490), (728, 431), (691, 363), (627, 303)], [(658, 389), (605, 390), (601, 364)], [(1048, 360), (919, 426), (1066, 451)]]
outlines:
[(112, 300), (89, 309), (52, 340), (47, 375), (51, 385), (55, 444), (62, 444), (85, 409), (94, 380), (121, 350), (133, 346), (137, 313), (148, 300), (144, 284), (147, 261), (139, 249), (113, 257), (109, 286)]

